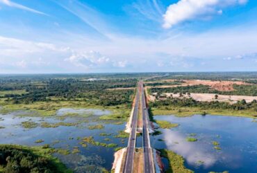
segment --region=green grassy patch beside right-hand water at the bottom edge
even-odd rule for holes
[[[184,158],[178,154],[169,151],[167,149],[160,149],[160,156],[163,156],[169,161],[169,168],[165,172],[179,172],[179,173],[192,173],[192,170],[188,170],[184,165]]]

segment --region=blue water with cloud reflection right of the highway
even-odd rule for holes
[[[179,127],[159,129],[151,145],[166,148],[185,158],[185,166],[195,172],[256,172],[257,123],[252,118],[232,116],[155,116],[156,120],[178,123]],[[186,138],[197,138],[188,142]],[[164,141],[160,141],[164,140]],[[221,149],[215,149],[213,141]],[[167,161],[164,162],[167,167]]]

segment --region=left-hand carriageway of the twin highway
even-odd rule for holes
[[[126,152],[126,161],[124,165],[124,173],[133,172],[133,160],[134,160],[134,152],[135,152],[135,140],[136,140],[136,131],[137,131],[137,122],[138,122],[138,104],[140,97],[140,85],[138,85],[138,92],[135,95],[135,107],[133,112],[133,118],[131,123],[131,134],[128,138],[128,147]]]

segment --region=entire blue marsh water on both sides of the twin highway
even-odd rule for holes
[[[100,172],[101,167],[110,170],[114,160],[113,147],[101,147],[88,144],[82,147],[81,138],[94,136],[100,143],[116,143],[117,147],[126,147],[127,138],[115,138],[118,131],[124,130],[125,123],[100,120],[99,116],[112,113],[99,109],[59,109],[56,116],[43,118],[33,116],[30,111],[15,111],[0,114],[0,143],[19,145],[44,145],[69,149],[78,147],[78,153],[54,154],[67,167],[76,172]],[[69,114],[70,116],[65,116]],[[80,116],[76,116],[76,114]],[[26,116],[24,116],[26,115]],[[74,116],[75,115],[75,116]],[[158,129],[163,134],[151,136],[151,146],[156,149],[166,148],[185,158],[185,166],[195,172],[256,172],[257,170],[257,123],[252,118],[232,116],[155,116],[156,120],[167,120],[178,123],[179,127]],[[22,122],[38,123],[35,128],[26,129]],[[44,128],[42,122],[79,122],[72,126]],[[103,129],[88,129],[90,125],[103,125]],[[108,133],[110,136],[101,136]],[[197,138],[196,142],[188,142],[187,137]],[[109,140],[106,141],[105,139]],[[137,146],[142,147],[142,136],[137,140]],[[35,143],[42,139],[43,143]],[[221,149],[214,149],[213,141],[219,143]],[[167,159],[163,158],[165,167]]]

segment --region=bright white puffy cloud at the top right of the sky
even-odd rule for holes
[[[165,15],[163,15],[163,28],[171,28],[182,21],[188,21],[196,17],[221,15],[221,8],[245,3],[247,3],[247,0],[180,0],[167,8]]]

